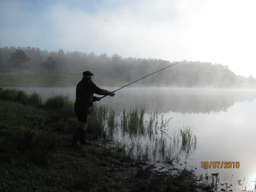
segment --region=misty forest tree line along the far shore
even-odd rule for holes
[[[23,53],[24,54],[23,54]],[[20,61],[16,57],[20,56]],[[21,59],[22,58],[22,59]],[[175,63],[177,61],[173,61]],[[38,72],[81,73],[92,71],[101,78],[131,82],[172,64],[161,59],[122,58],[118,54],[99,56],[78,51],[48,52],[39,48],[0,48],[0,70],[29,70]],[[236,75],[227,65],[200,61],[184,61],[157,74],[148,76],[139,84],[172,87],[256,87],[256,79]]]

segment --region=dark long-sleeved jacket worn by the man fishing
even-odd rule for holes
[[[95,85],[95,83],[86,77],[83,77],[82,80],[76,86],[76,101],[74,110],[75,112],[91,112],[91,106],[93,101],[96,101],[96,97],[93,94],[98,95],[110,95],[111,92],[100,89]]]

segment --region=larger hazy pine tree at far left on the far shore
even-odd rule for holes
[[[29,65],[25,65],[26,62],[30,61],[30,58],[27,57],[23,50],[16,49],[16,52],[10,54],[10,59],[8,59],[9,63],[12,63],[13,67],[18,68],[29,68]]]

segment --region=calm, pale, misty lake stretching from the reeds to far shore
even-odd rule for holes
[[[75,100],[75,87],[19,89],[36,91],[43,99],[61,93]],[[221,182],[232,183],[234,191],[239,187],[237,180],[244,177],[247,189],[254,186],[250,181],[256,179],[256,90],[125,87],[100,103],[120,108],[145,105],[147,113],[157,109],[165,120],[172,117],[170,135],[177,128],[193,127],[197,147],[187,162],[188,168],[196,167],[196,173],[203,175],[219,173]],[[202,169],[203,161],[239,162],[239,168]]]

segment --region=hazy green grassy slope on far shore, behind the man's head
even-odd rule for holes
[[[6,72],[0,74],[0,87],[75,87],[82,79],[82,73],[67,72]],[[100,86],[122,86],[126,82],[99,78],[96,74],[94,82]],[[126,83],[127,84],[127,83]]]

